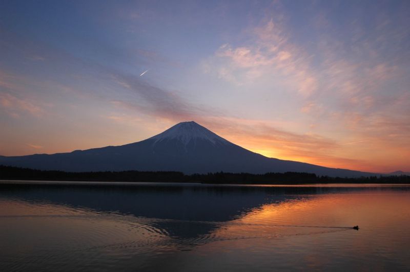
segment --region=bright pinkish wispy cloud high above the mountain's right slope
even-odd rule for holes
[[[206,61],[220,78],[242,85],[262,77],[279,77],[277,84],[303,97],[315,93],[318,79],[310,65],[311,56],[289,41],[280,21],[271,18],[248,33],[243,46],[223,44]]]

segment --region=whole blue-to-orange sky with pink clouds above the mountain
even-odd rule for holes
[[[269,157],[410,171],[408,14],[410,1],[3,0],[0,155],[195,121]]]

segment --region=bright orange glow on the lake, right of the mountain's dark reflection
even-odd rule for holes
[[[255,208],[218,229],[215,235],[274,238],[354,231],[355,225],[360,226],[360,232],[401,232],[409,221],[405,214],[410,214],[407,193],[306,195]]]

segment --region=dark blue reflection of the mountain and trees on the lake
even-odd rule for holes
[[[336,187],[249,187],[172,184],[2,184],[0,196],[33,202],[50,202],[104,213],[119,213],[153,219],[152,226],[170,236],[194,238],[209,234],[218,224],[243,217],[268,203],[298,198],[298,194],[357,191]],[[377,190],[380,190],[378,188]]]

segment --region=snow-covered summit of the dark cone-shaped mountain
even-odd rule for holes
[[[196,141],[198,139],[210,141],[213,144],[230,143],[222,137],[219,137],[211,130],[195,123],[194,121],[178,123],[175,126],[167,129],[166,131],[159,133],[154,137],[151,137],[150,139],[155,140],[154,143],[175,139],[182,142],[184,145],[187,145],[189,144],[189,142]]]

